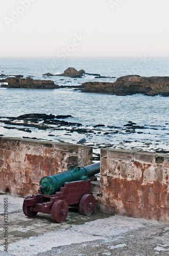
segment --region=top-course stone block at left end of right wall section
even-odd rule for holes
[[[107,150],[107,158],[115,158],[120,160],[130,160],[133,161],[134,158],[134,152],[133,150],[115,150],[109,148]]]

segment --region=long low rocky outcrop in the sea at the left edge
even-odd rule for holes
[[[5,88],[31,88],[31,89],[57,89],[59,86],[51,80],[34,80],[32,78],[8,77],[5,79],[8,84],[3,84]]]

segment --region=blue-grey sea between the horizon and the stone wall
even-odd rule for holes
[[[110,78],[98,79],[90,75],[82,78],[43,77],[47,72],[59,75],[69,67]],[[59,86],[65,86],[50,90],[0,87],[1,136],[74,144],[85,138],[84,145],[93,146],[96,158],[99,158],[100,147],[169,153],[169,97],[82,93],[73,88],[87,81],[115,82],[125,75],[169,76],[168,57],[0,58],[0,74],[53,80]],[[63,125],[62,129],[49,125],[45,130],[28,127],[31,131],[27,132],[21,131],[21,125],[4,123],[8,117],[31,113],[71,115],[64,119],[70,125]],[[72,123],[80,124],[81,130],[78,131],[77,125]]]

